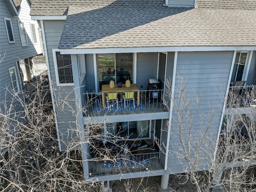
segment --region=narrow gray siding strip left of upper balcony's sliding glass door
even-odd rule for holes
[[[86,90],[88,93],[92,93],[95,91],[93,54],[86,54],[85,65],[86,65]]]

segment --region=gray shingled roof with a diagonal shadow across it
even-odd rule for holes
[[[67,14],[60,49],[256,46],[254,0],[198,0],[196,8],[166,7],[163,3],[33,0],[31,14]],[[40,7],[43,10],[38,12]]]

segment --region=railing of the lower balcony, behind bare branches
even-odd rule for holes
[[[91,158],[90,177],[132,172],[162,170],[159,153],[126,154],[113,160]]]

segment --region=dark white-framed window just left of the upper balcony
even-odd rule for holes
[[[61,55],[56,52],[56,80],[57,84],[73,85],[71,58],[69,54]]]

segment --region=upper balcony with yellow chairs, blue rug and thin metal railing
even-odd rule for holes
[[[84,114],[93,116],[168,112],[164,90],[85,93]]]

